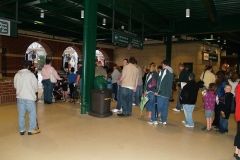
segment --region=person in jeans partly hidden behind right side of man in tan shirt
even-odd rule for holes
[[[137,61],[134,63],[134,66],[138,69],[138,86],[136,92],[133,93],[134,101],[133,106],[138,106],[140,104],[140,99],[142,96],[142,88],[143,88],[143,81],[142,81],[142,69],[140,66],[137,65]]]

